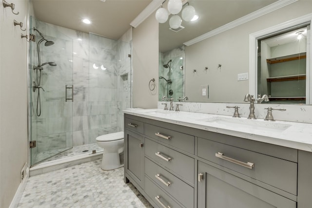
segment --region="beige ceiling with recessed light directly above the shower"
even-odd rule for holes
[[[41,21],[118,39],[152,0],[32,0]],[[88,18],[87,25],[81,19]]]

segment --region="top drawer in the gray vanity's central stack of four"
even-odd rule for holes
[[[145,124],[145,135],[157,139],[180,150],[194,154],[195,137],[189,134],[176,132],[170,129]]]

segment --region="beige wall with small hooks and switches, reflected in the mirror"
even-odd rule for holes
[[[185,47],[185,95],[190,101],[242,103],[243,96],[250,93],[249,80],[237,81],[237,74],[249,72],[249,34],[309,14],[311,8],[311,0],[299,0]],[[222,64],[222,67],[217,68],[218,64]],[[205,66],[209,67],[207,72]],[[193,73],[193,69],[197,69],[197,72]],[[201,96],[200,85],[204,84],[209,84],[209,99]]]

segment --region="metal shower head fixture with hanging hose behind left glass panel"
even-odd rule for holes
[[[39,35],[41,36],[42,39],[40,39],[37,43],[37,52],[38,52],[38,65],[34,66],[34,70],[36,70],[36,81],[32,82],[32,87],[33,87],[33,91],[36,92],[36,90],[38,89],[37,92],[37,107],[36,107],[36,113],[38,116],[41,115],[41,98],[40,98],[40,89],[42,89],[42,91],[44,92],[44,89],[40,86],[41,83],[41,70],[43,70],[43,66],[46,64],[49,64],[50,66],[56,66],[57,64],[54,62],[45,62],[43,64],[41,64],[41,55],[40,55],[40,44],[45,41],[44,46],[51,46],[54,44],[53,41],[51,40],[47,40],[42,33],[40,33],[39,30],[37,30],[36,28],[34,28],[34,31],[37,31],[39,33]],[[39,73],[38,73],[39,72]]]

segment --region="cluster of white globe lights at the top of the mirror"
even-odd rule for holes
[[[182,19],[185,21],[195,21],[198,19],[198,15],[195,14],[195,8],[191,6],[189,2],[186,2],[184,5],[182,5],[182,0],[169,0],[168,12],[165,8],[162,7],[165,1],[162,2],[161,8],[156,11],[155,17],[159,23],[164,23],[167,21],[168,16],[172,14],[173,16],[171,16],[171,18],[169,19],[169,25],[171,30],[173,29],[173,31],[178,32],[179,30],[183,29],[184,27],[181,26]],[[181,10],[182,19],[180,18],[180,16],[177,15]],[[175,30],[178,28],[179,30]]]

